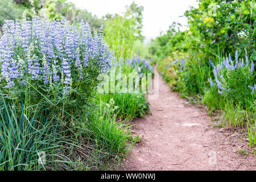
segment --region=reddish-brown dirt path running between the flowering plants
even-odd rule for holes
[[[172,92],[159,76],[158,100],[150,100],[151,114],[135,119],[134,135],[143,135],[118,170],[256,170],[245,136],[210,125],[204,109]]]

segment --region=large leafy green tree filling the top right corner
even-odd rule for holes
[[[237,49],[247,49],[249,55],[254,52],[255,56],[255,12],[255,0],[200,0],[199,7],[192,7],[185,16],[190,36],[213,52],[221,50],[233,54]],[[190,46],[200,47],[200,42]]]

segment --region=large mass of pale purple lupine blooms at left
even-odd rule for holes
[[[54,86],[61,82],[69,94],[72,79],[86,77],[92,63],[105,72],[113,53],[105,45],[103,23],[92,35],[88,23],[77,28],[66,19],[49,20],[34,15],[32,20],[5,20],[0,38],[1,84],[12,88],[28,79]]]

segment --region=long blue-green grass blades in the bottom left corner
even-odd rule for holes
[[[28,100],[20,102],[20,108],[13,102],[8,104],[1,92],[0,111],[0,169],[2,170],[34,170],[48,169],[39,165],[39,152],[46,152],[47,164],[59,168],[58,160],[71,164],[71,160],[64,154],[67,147],[64,143],[71,143],[68,129],[59,131],[63,127],[55,119],[54,111],[47,113],[41,103],[26,105]],[[19,114],[20,112],[20,114]]]

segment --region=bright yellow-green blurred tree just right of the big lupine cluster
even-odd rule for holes
[[[105,20],[105,39],[119,60],[131,59],[135,42],[143,40],[142,36],[142,11],[143,6],[134,2],[126,6],[126,12],[121,15],[107,14]]]

